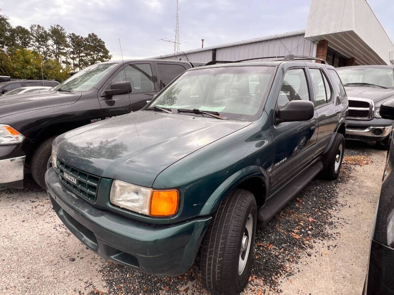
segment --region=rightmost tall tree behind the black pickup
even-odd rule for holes
[[[85,59],[84,66],[94,64],[98,61],[107,61],[111,59],[108,49],[105,47],[104,41],[102,41],[95,33],[90,33],[85,38]]]

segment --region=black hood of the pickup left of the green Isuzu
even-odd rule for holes
[[[81,97],[80,92],[69,93],[55,90],[0,96],[0,118],[58,105],[72,104],[79,97]]]

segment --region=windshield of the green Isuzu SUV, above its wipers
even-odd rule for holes
[[[270,66],[234,66],[188,71],[147,108],[198,109],[229,119],[253,120],[274,70]]]

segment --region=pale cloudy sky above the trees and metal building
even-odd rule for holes
[[[112,59],[155,57],[174,52],[175,0],[0,0],[12,26],[46,28],[104,40]],[[394,1],[368,0],[394,42]],[[180,50],[253,39],[306,28],[310,0],[179,0]]]

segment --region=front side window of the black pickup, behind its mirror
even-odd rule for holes
[[[126,77],[125,77],[126,73]],[[153,91],[153,74],[150,64],[131,64],[121,70],[111,83],[129,81],[131,83],[131,93]],[[110,87],[110,85],[109,85]]]

